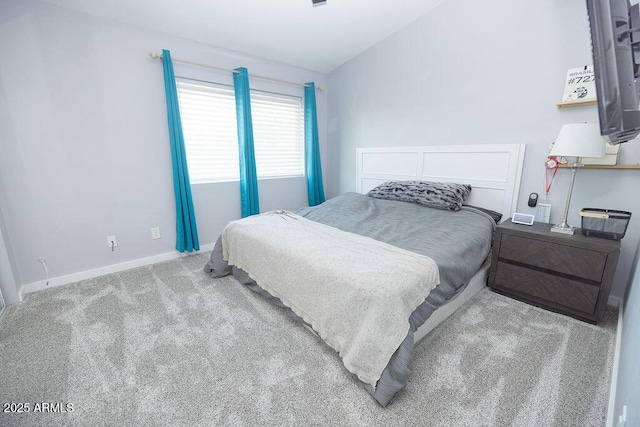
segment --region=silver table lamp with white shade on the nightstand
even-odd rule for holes
[[[571,163],[571,184],[569,184],[569,194],[567,195],[567,204],[564,208],[562,222],[551,227],[551,231],[556,233],[573,234],[575,228],[567,223],[567,216],[569,215],[569,204],[571,203],[573,183],[576,179],[576,170],[582,166],[580,164],[581,157],[604,157],[604,139],[600,135],[600,126],[595,123],[563,125],[556,141],[551,146],[549,156],[576,158],[575,162]]]

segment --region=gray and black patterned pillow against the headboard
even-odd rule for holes
[[[389,181],[367,193],[375,199],[417,203],[430,208],[457,211],[469,197],[471,186],[453,182]]]

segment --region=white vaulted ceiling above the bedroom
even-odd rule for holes
[[[446,0],[42,0],[328,73]]]

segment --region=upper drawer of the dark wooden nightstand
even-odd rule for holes
[[[607,254],[511,234],[502,234],[500,257],[600,282]]]

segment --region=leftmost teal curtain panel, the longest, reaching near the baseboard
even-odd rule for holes
[[[173,72],[171,53],[165,49],[162,50],[162,67],[167,98],[171,163],[173,165],[173,190],[176,199],[176,250],[193,252],[200,250],[200,243],[198,242],[195,208],[191,198],[191,183],[180,121],[176,77]]]

